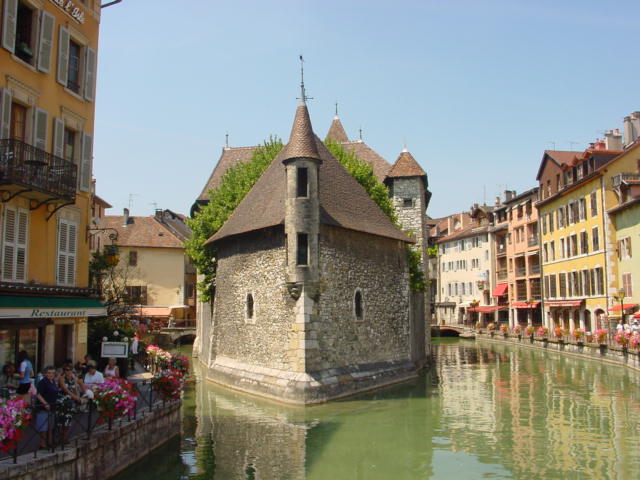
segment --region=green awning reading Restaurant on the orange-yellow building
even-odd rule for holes
[[[0,297],[0,319],[102,317],[107,309],[97,298]]]

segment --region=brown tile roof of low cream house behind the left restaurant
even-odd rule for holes
[[[122,215],[106,215],[101,227],[118,231],[117,245],[123,247],[184,248],[180,239],[155,217],[129,217],[123,225]],[[106,235],[105,235],[106,237]]]

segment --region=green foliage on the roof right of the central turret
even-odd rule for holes
[[[373,167],[367,162],[356,157],[353,152],[348,152],[342,145],[333,140],[326,140],[325,145],[334,157],[347,169],[353,178],[362,185],[362,188],[369,194],[374,202],[378,204],[380,209],[385,213],[391,221],[398,225],[398,220],[393,211],[393,203],[389,198],[389,190],[380,183],[378,178],[373,174]]]

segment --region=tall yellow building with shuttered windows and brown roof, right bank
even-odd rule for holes
[[[604,207],[606,165],[620,151],[546,151],[538,171],[543,319],[553,328],[605,327],[610,280]]]

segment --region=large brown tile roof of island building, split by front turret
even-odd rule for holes
[[[320,223],[413,242],[398,230],[358,182],[316,137],[320,164]],[[274,159],[231,217],[208,242],[282,224],[285,216],[283,152]]]

